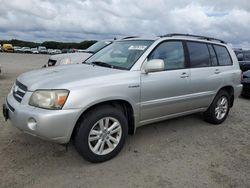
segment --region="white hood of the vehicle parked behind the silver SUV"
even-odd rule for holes
[[[77,63],[79,64],[85,61],[87,58],[89,58],[92,55],[93,54],[89,52],[67,53],[67,54],[52,55],[50,59],[58,61],[61,59],[69,58],[71,59],[73,64],[77,64]]]

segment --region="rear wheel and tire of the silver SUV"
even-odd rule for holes
[[[224,102],[222,102],[224,99]],[[225,101],[226,100],[226,101]],[[225,103],[225,105],[222,105]],[[220,105],[221,106],[220,106]],[[225,90],[221,90],[214,98],[212,104],[204,113],[207,122],[218,125],[225,121],[230,110],[230,96]],[[221,116],[219,115],[221,114]]]

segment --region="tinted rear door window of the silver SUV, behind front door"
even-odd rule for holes
[[[187,42],[191,67],[210,66],[210,57],[206,44]]]

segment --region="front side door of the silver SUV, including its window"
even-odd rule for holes
[[[190,109],[190,70],[182,42],[161,43],[148,56],[151,59],[162,59],[165,71],[141,74],[142,124]]]

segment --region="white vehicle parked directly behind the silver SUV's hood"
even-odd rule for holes
[[[87,58],[98,52],[99,50],[103,49],[104,47],[111,44],[112,41],[100,41],[84,52],[79,53],[67,53],[67,54],[60,54],[60,55],[53,55],[49,58],[48,64],[44,67],[51,67],[51,66],[58,66],[58,65],[67,65],[67,64],[80,64],[85,61]]]

